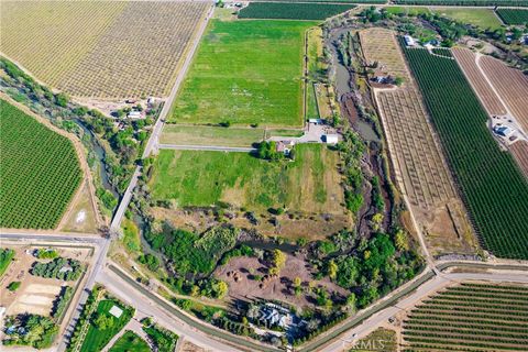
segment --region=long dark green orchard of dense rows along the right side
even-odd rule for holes
[[[462,70],[454,59],[402,46],[484,246],[501,257],[528,258],[528,183],[493,139]]]

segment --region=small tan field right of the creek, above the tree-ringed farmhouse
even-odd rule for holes
[[[361,47],[367,64],[378,62],[378,69],[408,80],[409,74],[391,30],[373,28],[360,31]]]

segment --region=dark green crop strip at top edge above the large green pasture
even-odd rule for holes
[[[355,8],[353,4],[250,2],[239,19],[324,20]]]

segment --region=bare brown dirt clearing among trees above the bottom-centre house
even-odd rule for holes
[[[240,277],[237,282],[233,273]],[[314,306],[314,301],[308,295],[308,284],[312,282],[314,287],[323,286],[329,293],[337,293],[345,296],[345,289],[331,283],[327,277],[321,280],[315,280],[311,272],[307,268],[306,261],[301,256],[287,255],[286,265],[280,271],[278,277],[264,278],[262,282],[252,279],[252,275],[265,276],[267,267],[256,257],[235,257],[229,264],[218,267],[215,276],[227,282],[229,285],[229,297],[232,299],[278,299],[296,307]],[[297,297],[294,294],[292,283],[295,277],[302,282],[302,294]],[[262,286],[262,287],[261,287]]]

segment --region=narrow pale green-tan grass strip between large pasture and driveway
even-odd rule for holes
[[[262,141],[264,129],[167,124],[160,143],[179,145],[251,146]]]

